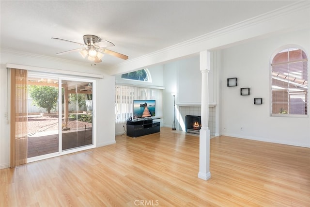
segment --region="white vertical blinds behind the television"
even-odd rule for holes
[[[133,115],[133,100],[156,100],[156,116],[162,116],[162,89],[115,86],[115,123],[124,124]]]

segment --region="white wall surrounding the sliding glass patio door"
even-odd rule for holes
[[[103,75],[103,79],[96,79],[96,145],[97,147],[115,143],[115,77],[102,73],[102,69],[88,64],[74,64],[45,59],[40,56],[21,55],[1,51],[0,60],[0,168],[9,166],[10,160],[10,97],[7,96],[6,63],[23,64],[44,68],[61,69],[62,71],[83,72]],[[9,91],[9,90],[8,90]],[[8,99],[7,99],[8,98]],[[8,109],[8,110],[7,110]]]

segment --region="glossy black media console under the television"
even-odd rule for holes
[[[160,132],[160,122],[155,122],[153,119],[127,121],[127,136],[129,137],[140,137],[156,132]]]

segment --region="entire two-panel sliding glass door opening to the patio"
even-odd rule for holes
[[[28,75],[28,162],[94,147],[93,85]]]

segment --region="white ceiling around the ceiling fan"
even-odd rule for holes
[[[84,34],[115,44],[130,59],[245,21],[288,5],[289,0],[91,0],[0,1],[0,47],[84,63],[78,52]],[[125,60],[106,55],[100,67]]]

